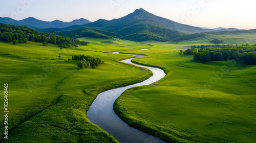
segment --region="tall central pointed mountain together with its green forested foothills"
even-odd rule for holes
[[[200,32],[218,32],[218,31],[234,31],[237,29],[207,29],[207,28],[199,28],[193,27],[189,25],[183,25],[181,23],[156,16],[151,14],[144,9],[136,9],[133,13],[130,13],[124,17],[119,19],[112,20],[104,20],[99,19],[95,22],[87,23],[86,25],[80,26],[72,26],[64,29],[44,29],[42,32],[57,32],[62,36],[63,34],[69,33],[70,36],[72,33],[78,35],[79,30],[82,31],[81,27],[88,27],[90,29],[90,33],[95,30],[104,31],[105,35],[114,37],[133,40],[133,41],[145,41],[145,40],[157,40],[157,41],[167,41],[172,40],[180,36],[184,36],[187,34],[200,33]],[[79,30],[73,30],[75,28],[81,28]],[[68,32],[61,32],[63,30],[69,30]],[[83,30],[84,31],[84,30]],[[100,31],[95,31],[99,32]],[[110,32],[110,33],[106,33]],[[88,33],[87,35],[90,35]],[[84,32],[81,32],[80,35],[84,35]],[[118,36],[117,36],[118,35]],[[194,34],[191,37],[200,37],[204,36],[203,34]],[[189,36],[185,36],[189,37]]]

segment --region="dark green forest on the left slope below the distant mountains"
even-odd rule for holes
[[[70,47],[87,45],[90,42],[79,41],[69,37],[62,37],[52,33],[42,33],[28,27],[7,25],[0,23],[0,40],[13,42],[13,44],[26,43],[27,41],[42,42],[43,45],[48,43],[57,44],[59,47]]]

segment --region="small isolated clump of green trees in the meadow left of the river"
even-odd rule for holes
[[[96,66],[104,63],[99,58],[94,58],[92,56],[86,56],[86,55],[74,55],[72,56],[72,60],[78,61],[77,66],[80,68],[95,68]]]

